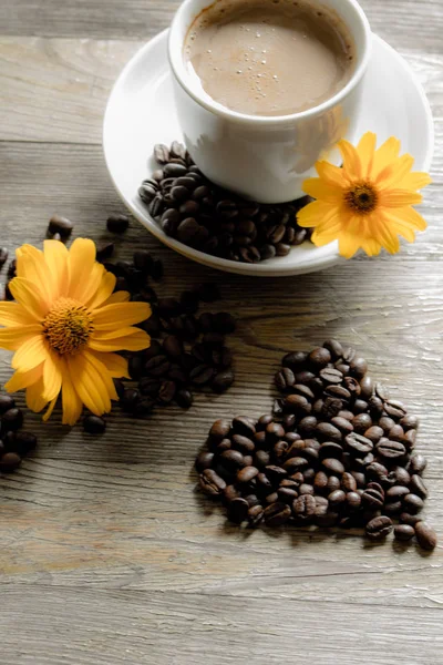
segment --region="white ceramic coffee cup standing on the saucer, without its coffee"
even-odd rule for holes
[[[187,150],[214,183],[259,203],[302,196],[302,183],[315,174],[317,160],[339,164],[338,141],[357,139],[371,29],[357,0],[311,2],[339,16],[356,43],[357,62],[351,80],[333,98],[292,115],[264,117],[231,111],[208,98],[192,76],[184,59],[185,39],[195,18],[214,0],[184,0],[171,27],[168,55]]]

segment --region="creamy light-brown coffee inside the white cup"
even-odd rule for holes
[[[318,106],[354,71],[346,27],[309,0],[218,0],[192,24],[184,58],[210,100],[248,115]]]

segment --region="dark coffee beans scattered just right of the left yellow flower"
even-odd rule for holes
[[[114,233],[123,233],[123,216],[107,221]],[[120,224],[120,226],[119,226]],[[127,225],[126,225],[127,228]],[[195,390],[222,393],[234,383],[233,352],[226,337],[235,331],[236,320],[226,311],[202,311],[202,304],[220,299],[218,287],[200,284],[179,297],[161,297],[151,280],[163,276],[163,263],[147,250],[134,252],[133,260],[109,263],[114,244],[97,247],[97,259],[117,277],[115,290],[127,290],[132,301],[148,303],[152,316],[140,324],[150,334],[151,347],[128,352],[130,381],[115,380],[120,407],[134,418],[150,416],[156,407],[176,403],[189,409]],[[91,434],[106,429],[103,418],[86,416],[83,428]]]

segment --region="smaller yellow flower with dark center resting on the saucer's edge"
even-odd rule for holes
[[[368,132],[354,147],[340,141],[343,166],[317,162],[319,177],[303,183],[303,191],[317,198],[298,213],[300,226],[315,227],[317,246],[339,241],[340,254],[351,258],[364,249],[369,256],[400,249],[399,235],[410,243],[415,231],[426,223],[412,205],[421,203],[418,194],[431,182],[427,173],[411,173],[411,155],[399,157],[400,141],[389,139],[375,150],[377,136]]]

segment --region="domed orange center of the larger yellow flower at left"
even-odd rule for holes
[[[43,321],[43,332],[50,347],[61,354],[75,354],[87,342],[93,331],[92,316],[72,298],[60,298]]]

